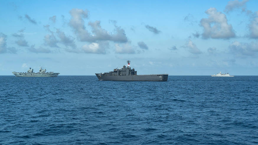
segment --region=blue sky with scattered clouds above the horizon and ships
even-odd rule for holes
[[[258,1],[1,1],[0,75],[258,75]]]

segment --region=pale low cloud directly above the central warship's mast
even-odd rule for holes
[[[133,48],[133,46],[131,45],[130,42],[127,43],[123,43],[123,44],[115,44],[115,52],[116,53],[120,53],[120,54],[133,54],[135,53],[135,49]]]

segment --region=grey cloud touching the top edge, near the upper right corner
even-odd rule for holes
[[[233,11],[233,9],[239,9],[242,8],[242,11],[245,11],[246,9],[246,2],[249,0],[243,0],[243,1],[228,1],[228,4],[225,7],[225,12]]]

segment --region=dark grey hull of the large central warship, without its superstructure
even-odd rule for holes
[[[99,80],[109,81],[167,81],[168,75],[103,75],[96,73]]]

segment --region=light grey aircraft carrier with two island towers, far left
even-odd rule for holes
[[[46,72],[46,69],[40,67],[39,72],[33,72],[30,68],[27,72],[12,72],[16,77],[57,77],[60,73]]]

